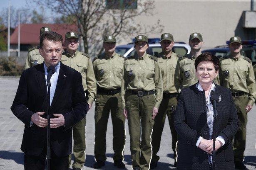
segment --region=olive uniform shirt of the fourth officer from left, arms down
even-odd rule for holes
[[[154,107],[159,108],[163,98],[163,80],[157,57],[146,53],[142,57],[126,58],[121,88],[122,109],[125,109],[126,92],[130,90],[153,90],[156,96]]]

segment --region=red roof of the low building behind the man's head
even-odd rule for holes
[[[51,27],[53,32],[57,32],[65,39],[65,34],[69,31],[77,32],[75,24],[20,24],[20,44],[39,44],[40,28]],[[10,36],[10,44],[18,44],[18,27]]]

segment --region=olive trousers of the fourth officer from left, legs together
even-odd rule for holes
[[[152,119],[155,96],[127,94],[125,107],[128,113],[132,168],[148,170],[152,159],[151,135],[154,126]],[[141,139],[141,140],[140,140]]]

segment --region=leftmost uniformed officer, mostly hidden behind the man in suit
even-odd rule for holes
[[[52,31],[50,27],[42,27],[40,28],[40,35],[44,32],[50,32],[50,31]],[[36,66],[37,64],[41,64],[43,61],[44,61],[44,58],[42,58],[42,56],[39,53],[39,46],[32,47],[28,49],[24,70],[27,68]]]

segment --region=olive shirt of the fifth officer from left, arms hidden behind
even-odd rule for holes
[[[172,52],[170,57],[165,56],[163,53],[159,53],[157,57],[163,78],[164,93],[177,93],[174,85],[174,73],[181,56],[177,56],[176,53]]]

